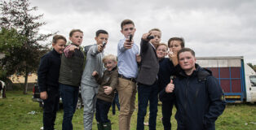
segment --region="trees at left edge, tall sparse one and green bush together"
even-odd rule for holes
[[[30,7],[29,0],[8,0],[0,3],[0,79],[19,73],[24,76],[24,93],[27,93],[29,72],[36,72],[40,57],[49,51],[40,44],[53,33],[41,34],[43,15],[33,15],[38,7]]]

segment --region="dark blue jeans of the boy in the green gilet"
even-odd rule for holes
[[[60,84],[60,96],[63,102],[63,130],[73,130],[73,114],[77,108],[79,87]]]

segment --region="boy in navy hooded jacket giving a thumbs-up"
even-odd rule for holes
[[[182,70],[166,86],[166,93],[177,103],[178,129],[214,130],[226,106],[223,90],[209,70],[196,64],[193,50],[183,48],[177,55]]]

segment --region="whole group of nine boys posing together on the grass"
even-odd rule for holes
[[[132,38],[135,31],[132,20],[121,22],[124,38],[118,42],[115,57],[113,54],[104,56],[108,32],[98,30],[95,37],[97,44],[90,46],[86,62],[80,47],[83,38],[81,30],[70,32],[69,40],[72,43],[66,47],[63,36],[53,37],[54,49],[41,58],[38,68],[38,85],[44,102],[44,129],[54,129],[60,96],[64,105],[62,129],[73,129],[72,118],[76,111],[79,86],[86,130],[92,129],[95,112],[98,129],[111,129],[108,111],[115,89],[119,94],[120,130],[130,130],[137,90],[138,130],[144,129],[148,102],[148,127],[150,130],[156,129],[158,97],[162,102],[165,130],[171,129],[170,116],[174,104],[178,129],[214,129],[214,122],[222,114],[225,101],[223,91],[211,72],[195,63],[195,53],[184,48],[182,38],[170,38],[167,46],[161,43],[161,30],[152,28],[143,34],[139,50]],[[168,47],[170,53],[167,53]],[[165,58],[167,54],[169,58]]]

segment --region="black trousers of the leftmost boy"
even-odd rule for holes
[[[54,130],[56,113],[59,109],[60,93],[58,88],[47,89],[48,98],[43,100],[43,129]]]

